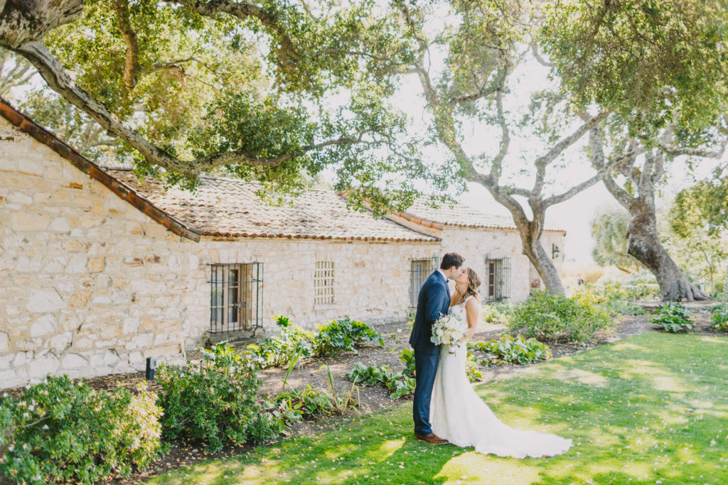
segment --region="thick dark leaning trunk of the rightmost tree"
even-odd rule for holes
[[[687,281],[678,265],[657,239],[657,222],[649,204],[633,204],[627,228],[627,252],[647,267],[660,285],[662,301],[710,300],[707,294]]]

